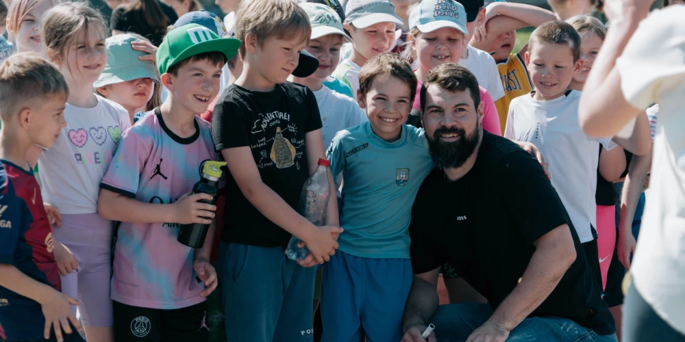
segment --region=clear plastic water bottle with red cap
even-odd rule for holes
[[[331,197],[331,188],[328,183],[327,159],[319,159],[319,166],[314,174],[304,183],[302,194],[300,195],[297,212],[312,222],[315,226],[324,226],[326,222],[326,209],[328,200]],[[297,247],[301,240],[295,236],[290,238],[286,255],[291,260],[301,260],[307,257],[309,249]]]

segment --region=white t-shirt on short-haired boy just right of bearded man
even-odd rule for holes
[[[580,128],[580,92],[569,90],[550,101],[536,101],[531,94],[512,100],[504,137],[537,146],[549,163],[552,185],[569,212],[580,242],[593,241],[590,225],[597,229],[599,144],[607,149],[616,144],[611,138],[588,137]]]

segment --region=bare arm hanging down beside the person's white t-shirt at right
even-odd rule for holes
[[[628,175],[621,193],[621,222],[619,223],[619,244],[616,254],[626,269],[630,268],[630,256],[635,252],[636,241],[633,236],[635,210],[643,192],[645,179],[651,168],[651,153],[634,156],[628,167]]]

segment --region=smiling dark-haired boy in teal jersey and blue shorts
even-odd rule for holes
[[[399,341],[412,282],[411,209],[433,168],[423,129],[404,124],[416,76],[384,53],[364,64],[358,100],[369,122],[340,131],[328,149],[334,176],[343,174],[338,252],[323,267],[323,340]]]

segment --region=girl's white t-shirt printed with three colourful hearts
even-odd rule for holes
[[[126,109],[96,97],[92,108],[66,105],[66,127],[38,159],[43,199],[63,214],[97,213],[100,182],[121,134],[131,127]]]

